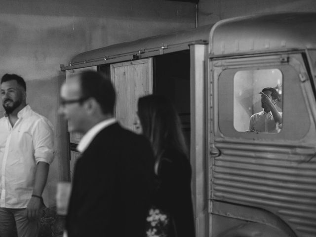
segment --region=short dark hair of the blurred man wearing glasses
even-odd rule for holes
[[[103,114],[113,114],[116,95],[111,80],[94,71],[81,73],[79,79],[82,97],[94,98],[101,106]]]

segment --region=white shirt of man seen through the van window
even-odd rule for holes
[[[281,116],[282,113],[278,112]],[[256,113],[250,117],[249,129],[257,132],[277,133],[275,119],[271,111],[266,113],[264,110]]]

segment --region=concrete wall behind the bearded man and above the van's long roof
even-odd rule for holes
[[[65,78],[60,64],[68,64],[83,51],[192,28],[195,4],[166,0],[0,0],[0,4],[0,76],[22,76],[28,103],[55,126],[56,155],[44,191],[46,203],[54,206],[56,183],[68,178],[66,123],[57,114]]]

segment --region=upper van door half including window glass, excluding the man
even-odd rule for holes
[[[278,56],[219,59],[214,60],[213,67],[217,80],[213,82],[214,94],[210,94],[210,109],[214,111],[210,124],[214,122],[215,136],[285,141],[300,140],[310,131],[312,117],[306,95],[313,91],[300,54],[288,56],[286,62]],[[247,132],[251,116],[263,110],[258,93],[265,87],[278,91],[276,108],[282,113],[281,124],[276,131]]]

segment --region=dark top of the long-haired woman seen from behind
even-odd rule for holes
[[[154,205],[170,214],[168,237],[195,237],[189,159],[175,150],[162,155]]]

